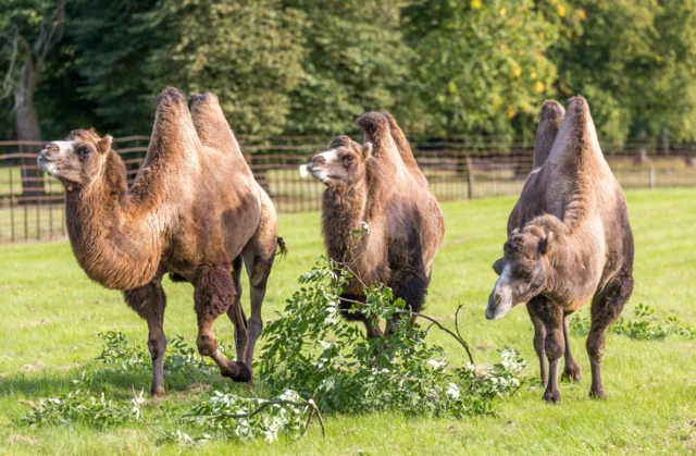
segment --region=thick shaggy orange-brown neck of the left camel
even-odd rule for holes
[[[129,210],[125,167],[115,152],[109,153],[101,180],[69,188],[65,219],[73,251],[87,275],[127,291],[152,279],[161,243],[147,214]]]

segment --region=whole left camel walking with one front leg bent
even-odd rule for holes
[[[67,233],[87,275],[124,292],[127,305],[147,321],[152,357],[151,394],[164,395],[162,278],[194,285],[196,345],[222,375],[251,380],[261,306],[277,237],[275,209],[256,183],[217,97],[166,88],[147,156],[128,188],[126,169],[111,136],[76,130],[49,143],[38,167],[65,188]],[[241,267],[250,281],[251,315],[240,305]],[[213,323],[227,313],[235,326],[237,360],[219,349]]]

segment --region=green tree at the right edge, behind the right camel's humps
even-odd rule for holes
[[[695,10],[694,0],[572,1],[575,24],[549,50],[559,95],[585,95],[617,145],[629,135],[696,138]]]

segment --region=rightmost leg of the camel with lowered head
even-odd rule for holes
[[[614,283],[607,284],[592,301],[592,328],[587,336],[587,355],[592,367],[592,386],[589,397],[605,398],[601,384],[601,361],[605,356],[605,332],[621,315],[623,305],[633,292],[633,278],[623,275]]]

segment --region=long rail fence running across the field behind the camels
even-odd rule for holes
[[[240,138],[257,181],[281,213],[319,210],[324,186],[301,178],[300,164],[325,149],[315,137]],[[114,139],[132,183],[149,137]],[[42,141],[0,141],[0,244],[65,236],[63,186],[37,171]],[[515,195],[532,170],[532,145],[465,138],[413,144],[414,155],[440,201]],[[696,186],[696,145],[631,139],[605,156],[624,188]]]

